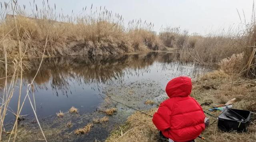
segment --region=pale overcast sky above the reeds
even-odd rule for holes
[[[2,0],[1,0],[2,1]],[[4,0],[5,2],[9,0]],[[20,5],[29,6],[30,0],[18,0]],[[47,0],[45,0],[47,1]],[[82,8],[106,6],[113,13],[122,14],[127,24],[132,19],[147,20],[154,23],[154,30],[161,26],[180,26],[190,33],[205,34],[209,31],[227,29],[240,23],[236,9],[250,20],[253,0],[48,0],[50,5],[65,14],[79,13]],[[31,0],[33,3],[33,0]],[[42,5],[42,0],[35,0]]]

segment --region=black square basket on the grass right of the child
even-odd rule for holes
[[[250,119],[250,111],[228,108],[218,116],[218,128],[224,132],[246,132]]]

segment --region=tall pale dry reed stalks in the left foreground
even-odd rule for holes
[[[17,1],[10,1],[12,4],[14,4],[14,7],[12,7],[12,13],[14,14],[14,11],[15,9],[18,7],[17,6]],[[2,4],[1,4],[2,5]],[[7,3],[5,3],[5,8],[8,6]],[[6,9],[5,10],[2,10],[2,7],[1,7],[1,14],[2,13],[5,13],[6,12]],[[2,17],[2,15],[1,15]],[[39,120],[37,118],[37,115],[36,115],[36,112],[35,112],[35,109],[34,109],[34,106],[32,105],[32,101],[28,95],[28,92],[30,91],[31,89],[31,86],[33,84],[33,81],[34,79],[32,80],[32,82],[30,84],[28,84],[28,87],[27,87],[27,93],[26,93],[26,96],[25,96],[25,99],[22,101],[21,100],[21,88],[22,88],[22,75],[23,75],[23,66],[26,65],[25,62],[23,61],[23,57],[24,57],[24,54],[26,53],[27,51],[27,45],[26,45],[26,42],[24,42],[24,44],[22,44],[22,39],[20,38],[20,28],[18,27],[18,24],[17,24],[17,20],[14,18],[13,21],[10,22],[10,24],[13,25],[12,28],[10,29],[5,29],[6,32],[4,31],[1,31],[1,38],[0,38],[0,54],[2,55],[1,57],[4,57],[4,61],[1,61],[2,63],[5,64],[5,85],[4,85],[4,91],[3,91],[3,96],[2,96],[2,106],[0,106],[0,114],[1,114],[1,122],[0,122],[0,141],[1,141],[1,138],[2,138],[2,131],[5,132],[5,128],[4,128],[4,119],[5,119],[5,115],[6,115],[6,111],[8,110],[8,105],[9,105],[9,102],[11,101],[12,99],[12,95],[13,95],[13,92],[14,92],[14,86],[16,85],[16,83],[18,82],[18,77],[20,78],[20,87],[19,87],[19,95],[18,95],[18,108],[17,108],[17,113],[15,114],[16,116],[16,120],[14,122],[14,125],[12,127],[12,130],[10,132],[10,135],[9,135],[9,139],[8,141],[10,141],[10,139],[12,138],[13,141],[16,140],[16,137],[17,137],[17,128],[18,128],[18,120],[20,118],[20,112],[22,110],[22,107],[24,105],[24,102],[26,100],[26,97],[28,97],[29,99],[29,103],[32,107],[32,110],[34,112],[34,115],[36,117],[36,120],[38,122],[38,126],[42,132],[42,135],[44,136],[44,132],[42,130],[42,127],[40,126],[40,123],[39,123]],[[2,28],[2,24],[0,26]],[[17,47],[18,50],[16,50],[16,53],[17,53],[17,56],[14,57],[12,59],[11,62],[7,61],[8,58],[10,58],[8,52],[10,51],[10,48],[8,49],[8,46],[10,45],[8,42],[10,41],[10,36],[9,34],[12,33],[12,37],[15,38],[15,44],[12,44],[12,45],[15,45]],[[24,32],[25,34],[27,32]],[[46,36],[46,39],[45,39],[45,46],[43,46],[43,53],[45,51],[45,47],[46,47],[46,44],[47,44],[47,37]],[[27,35],[26,37],[24,37],[24,39],[27,39],[27,40],[30,40],[31,37],[29,35]],[[8,45],[9,44],[9,45]],[[12,50],[12,49],[11,49]],[[42,55],[42,58],[44,57],[44,54]],[[1,58],[2,59],[2,58]],[[10,75],[8,73],[7,75],[7,72],[8,72],[8,64],[13,64],[14,66],[13,69],[14,69],[14,72],[12,72]],[[42,60],[41,60],[41,63],[42,63]],[[11,66],[10,66],[11,67]],[[38,70],[40,69],[40,66],[38,67]],[[37,72],[38,72],[37,70]],[[37,73],[36,73],[37,75]],[[35,77],[36,77],[35,75]],[[7,84],[7,79],[8,77],[11,77],[12,79],[10,80],[10,83],[8,82]],[[35,78],[34,77],[34,78]],[[22,105],[20,105],[22,103]],[[12,135],[14,134],[14,136]],[[13,137],[12,137],[13,136]],[[46,137],[44,136],[44,140],[46,140]]]

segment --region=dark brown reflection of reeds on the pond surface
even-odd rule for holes
[[[177,53],[148,52],[130,55],[96,56],[90,57],[53,57],[45,58],[33,85],[33,90],[46,89],[50,83],[53,90],[61,91],[62,95],[70,92],[70,83],[80,84],[111,83],[122,80],[124,75],[137,76],[149,71],[155,62],[161,63],[160,69],[173,69]],[[24,69],[23,78],[32,81],[39,67],[39,59],[30,59],[29,69]],[[141,70],[138,72],[138,70]],[[33,93],[33,92],[32,92]],[[58,95],[58,94],[57,94]]]

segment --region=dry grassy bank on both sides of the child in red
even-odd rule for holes
[[[208,87],[214,87],[209,89]],[[224,104],[230,99],[236,98],[233,104],[234,108],[254,111],[256,110],[256,98],[254,91],[256,90],[256,82],[239,77],[231,76],[224,71],[214,71],[207,73],[202,78],[193,81],[192,97],[196,98],[199,103],[213,102],[212,105]],[[211,108],[210,106],[202,106],[204,110]],[[148,110],[147,113],[153,115],[157,108]],[[212,112],[218,116],[220,112]],[[207,114],[206,114],[207,115]],[[222,132],[218,130],[217,123],[213,123],[215,118],[210,118],[211,125],[202,132],[202,136],[208,142],[254,142],[256,140],[256,116],[253,116],[252,123],[249,126],[249,132]],[[212,124],[213,123],[213,124]],[[159,131],[152,122],[152,118],[136,112],[131,115],[126,123],[121,126],[122,131],[118,128],[114,130],[107,138],[107,142],[156,142],[160,141]],[[196,139],[196,141],[204,142],[204,140]]]

